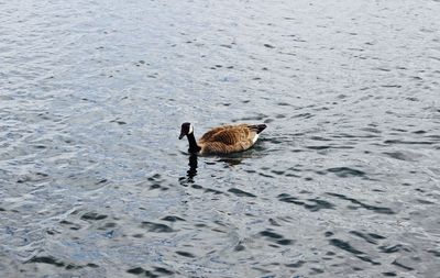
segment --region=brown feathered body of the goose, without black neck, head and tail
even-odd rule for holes
[[[206,133],[199,141],[202,153],[229,154],[254,144],[257,130],[248,124],[223,125]]]

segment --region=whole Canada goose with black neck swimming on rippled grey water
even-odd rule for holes
[[[193,125],[183,123],[179,140],[185,135],[188,137],[190,154],[230,154],[250,148],[264,129],[265,124],[222,125],[208,131],[196,142]]]

